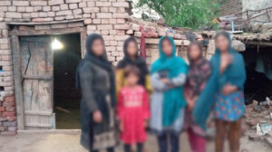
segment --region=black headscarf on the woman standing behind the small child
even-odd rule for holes
[[[135,43],[136,44],[138,52],[137,52],[137,54],[135,56],[135,60],[132,60],[129,53],[128,53],[129,43]],[[139,52],[140,52],[140,49],[139,49],[139,46],[138,46],[138,43],[137,43],[136,39],[134,37],[132,37],[132,36],[127,38],[125,40],[125,42],[123,43],[124,57],[120,62],[118,62],[117,69],[123,69],[127,65],[137,66],[139,68],[139,70],[141,71],[139,84],[144,86],[145,85],[145,77],[146,77],[147,74],[149,74],[149,70],[148,70],[147,63],[146,63],[145,59],[142,58],[139,55]]]

